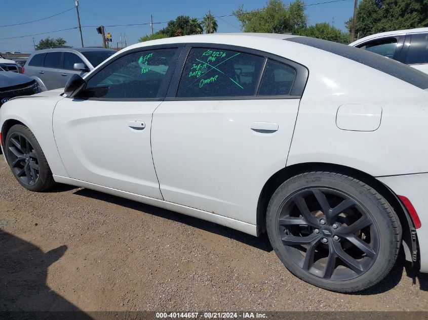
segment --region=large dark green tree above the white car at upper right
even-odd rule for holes
[[[358,6],[355,34],[412,29],[428,25],[428,0],[362,0]],[[352,17],[346,22],[349,32]]]

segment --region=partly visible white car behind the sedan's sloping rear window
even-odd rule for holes
[[[400,61],[428,73],[428,28],[376,33],[349,45]]]

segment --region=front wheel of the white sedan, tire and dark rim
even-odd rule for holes
[[[12,126],[6,136],[5,155],[18,182],[27,190],[52,188],[55,180],[42,148],[26,126]]]

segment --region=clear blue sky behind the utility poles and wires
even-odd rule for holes
[[[318,22],[332,23],[334,26],[345,30],[344,23],[353,14],[354,1],[343,0],[336,3],[313,5],[332,0],[305,0],[306,14],[309,24]],[[289,0],[284,3],[289,4]],[[132,23],[148,23],[150,15],[153,15],[153,22],[166,22],[175,19],[179,15],[188,15],[190,17],[202,18],[208,10],[211,10],[214,16],[229,15],[240,5],[244,5],[247,10],[255,10],[264,7],[264,0],[213,0],[213,1],[135,1],[135,0],[80,0],[79,9],[82,26],[98,25],[116,25]],[[56,13],[65,11],[74,7],[74,0],[21,0],[18,3],[14,1],[5,1],[2,3],[2,18],[0,25],[16,24],[45,18]],[[12,14],[16,13],[16,14]],[[217,18],[218,32],[239,32],[240,23],[235,17]],[[30,35],[77,26],[75,9],[67,11],[61,15],[50,19],[23,24],[18,26],[0,27],[0,38],[16,37],[21,35]],[[154,24],[154,31],[162,29],[166,23]],[[133,44],[138,41],[142,35],[150,33],[149,25],[140,26],[120,26],[107,27],[106,31],[111,32],[113,43],[119,41],[120,33],[126,33],[127,44]],[[101,45],[101,36],[97,34],[94,27],[84,27],[82,29],[85,46]],[[20,51],[31,52],[33,50],[33,37],[37,44],[40,39],[50,37],[63,37],[68,45],[81,47],[80,35],[78,29],[34,35],[14,39],[0,39],[0,52]]]

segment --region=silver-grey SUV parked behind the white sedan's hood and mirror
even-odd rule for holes
[[[36,79],[43,91],[62,88],[73,74],[85,75],[116,51],[100,48],[37,50],[28,57],[24,73]]]

